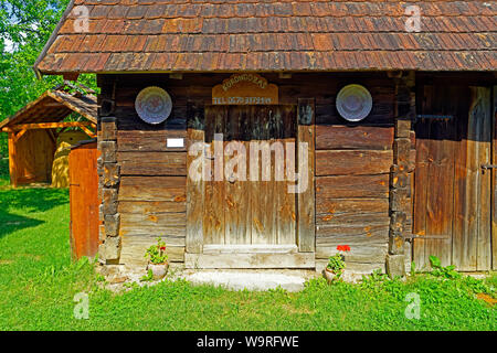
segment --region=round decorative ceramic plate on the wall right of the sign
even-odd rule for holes
[[[372,97],[361,85],[343,87],[337,97],[338,113],[348,121],[361,121],[372,110]]]

